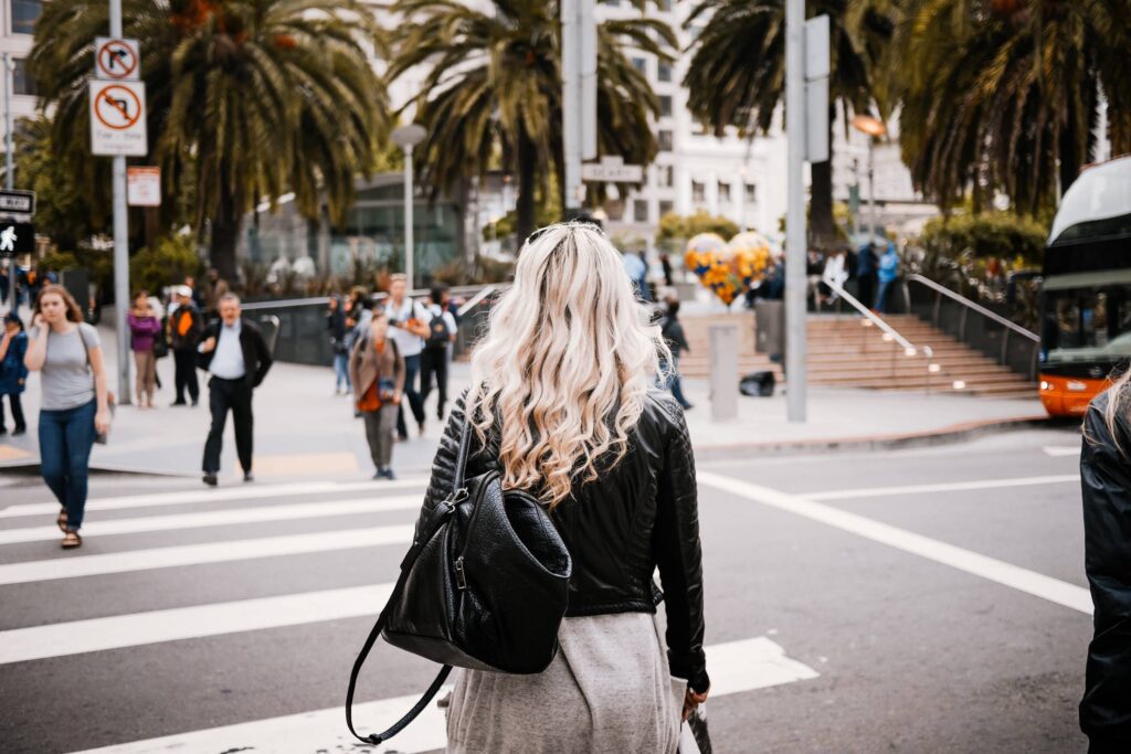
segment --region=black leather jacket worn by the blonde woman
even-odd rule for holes
[[[425,511],[451,492],[463,422],[460,396],[432,463]],[[499,470],[498,447],[498,432],[489,435],[485,449],[473,432],[467,476]],[[655,613],[665,600],[672,675],[705,691],[710,681],[703,656],[696,466],[679,404],[650,390],[624,458],[579,486],[551,517],[573,560],[567,616]],[[657,566],[663,595],[651,579]]]

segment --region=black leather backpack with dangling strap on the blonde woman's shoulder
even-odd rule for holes
[[[412,722],[452,666],[534,674],[558,653],[572,571],[569,551],[533,495],[504,492],[497,471],[465,482],[469,441],[465,421],[451,494],[417,525],[389,601],[354,661],[346,725],[366,744],[386,742]],[[354,687],[379,635],[443,668],[392,727],[362,736],[353,726]]]

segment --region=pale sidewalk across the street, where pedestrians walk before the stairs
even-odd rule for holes
[[[107,352],[107,365],[112,366],[113,333],[103,328],[100,335]],[[158,408],[120,407],[110,443],[94,448],[92,468],[183,476],[200,473],[210,422],[207,388],[201,385],[205,391],[197,408],[171,408],[172,359],[161,359],[157,370],[164,384],[157,391]],[[452,365],[450,396],[459,395],[467,384],[468,374],[466,364]],[[112,385],[114,382],[111,376]],[[740,397],[737,416],[714,422],[706,381],[688,380],[684,391],[696,406],[687,416],[700,458],[874,449],[940,437],[955,440],[986,427],[1024,424],[1044,416],[1035,396],[1017,400],[814,388],[809,393],[809,421],[804,424],[786,421],[785,396]],[[275,364],[256,391],[257,478],[369,478],[372,467],[362,423],[353,418],[351,399],[333,392],[334,372],[329,366]],[[0,437],[0,474],[6,467],[38,462],[35,418],[38,402],[38,376],[33,374],[24,393],[28,434]],[[398,443],[394,450],[394,468],[398,471],[418,473],[430,468],[442,432],[434,411],[433,392],[425,435],[417,436],[414,423],[409,422],[412,439]],[[221,477],[222,483],[227,484],[240,477],[231,422],[225,433]]]

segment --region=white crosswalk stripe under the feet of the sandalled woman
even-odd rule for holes
[[[368,500],[327,500],[318,503],[295,505],[260,505],[225,511],[179,513],[174,515],[149,515],[139,519],[116,519],[92,521],[83,526],[84,537],[173,531],[204,527],[230,526],[236,523],[265,523],[267,521],[295,521],[334,515],[356,515],[359,513],[385,513],[389,511],[416,510],[421,506],[420,495],[398,497],[371,497]],[[62,536],[57,526],[27,527],[24,529],[0,529],[0,545],[21,541],[43,541]]]

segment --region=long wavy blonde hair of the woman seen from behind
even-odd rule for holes
[[[472,356],[467,416],[484,442],[501,425],[503,486],[553,509],[597,478],[598,460],[607,473],[624,457],[650,374],[670,357],[601,231],[551,225],[524,244]]]

